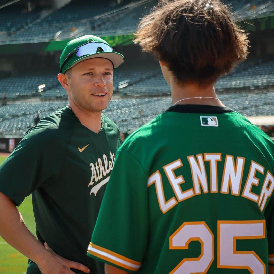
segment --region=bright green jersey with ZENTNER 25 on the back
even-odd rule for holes
[[[171,107],[118,150],[87,255],[132,273],[268,273],[273,155],[229,108]]]

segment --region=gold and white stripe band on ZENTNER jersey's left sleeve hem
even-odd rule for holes
[[[105,249],[101,246],[97,246],[92,242],[90,242],[87,252],[95,257],[132,271],[138,271],[142,265],[141,262],[131,260],[127,257],[119,255],[118,253]]]

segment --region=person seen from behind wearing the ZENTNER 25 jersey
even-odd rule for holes
[[[118,150],[87,255],[106,274],[268,273],[274,144],[214,91],[247,36],[218,0],[160,1],[140,25],[173,106]]]

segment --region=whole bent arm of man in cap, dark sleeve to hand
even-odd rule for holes
[[[88,273],[87,267],[61,258],[49,247],[43,246],[27,229],[16,207],[35,189],[45,184],[48,178],[57,174],[49,133],[30,129],[0,165],[0,236],[32,259],[43,274],[73,274],[70,268]]]

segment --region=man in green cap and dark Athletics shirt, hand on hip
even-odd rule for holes
[[[0,167],[0,235],[30,258],[28,274],[104,273],[85,254],[121,144],[102,110],[112,97],[113,68],[123,61],[99,37],[68,42],[58,74],[67,107],[28,130]],[[31,193],[38,241],[16,208]]]

